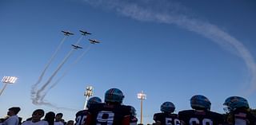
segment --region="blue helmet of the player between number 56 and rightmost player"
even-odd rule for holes
[[[196,110],[207,110],[210,111],[210,100],[206,96],[195,95],[190,99],[190,106]]]

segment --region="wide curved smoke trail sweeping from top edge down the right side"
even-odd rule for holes
[[[172,1],[160,0],[155,2],[152,0],[137,0],[131,2],[118,1],[118,0],[84,0],[92,6],[100,6],[104,9],[114,10],[123,16],[134,18],[138,21],[154,21],[168,25],[178,25],[183,29],[187,29],[194,33],[198,33],[203,37],[214,41],[225,49],[234,49],[238,56],[245,61],[246,67],[250,72],[250,88],[246,90],[246,95],[256,91],[256,64],[250,51],[238,41],[235,37],[226,33],[217,25],[210,24],[207,21],[202,21],[198,18],[193,18],[187,12],[184,6]],[[145,6],[146,5],[146,6]],[[159,7],[161,6],[161,7]],[[154,8],[154,10],[153,10]]]

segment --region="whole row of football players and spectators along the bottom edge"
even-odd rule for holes
[[[105,93],[104,102],[91,97],[86,110],[78,111],[74,120],[65,121],[63,114],[53,111],[45,113],[36,109],[30,118],[18,117],[20,107],[10,107],[7,117],[0,119],[0,125],[140,125],[133,106],[122,104],[124,95],[118,88],[110,88]],[[226,114],[210,111],[211,103],[206,96],[195,95],[190,99],[192,109],[178,111],[175,105],[166,101],[160,112],[154,114],[154,125],[256,125],[256,116],[250,112],[248,101],[241,96],[230,96],[224,101]]]

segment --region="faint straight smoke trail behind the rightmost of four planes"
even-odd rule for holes
[[[89,50],[90,50],[90,45],[89,45],[89,46],[86,48],[86,50],[73,62],[73,64],[72,64],[69,68],[66,69],[66,71],[62,74],[62,76],[59,77],[58,80],[56,80],[56,82],[55,82],[54,84],[52,84],[52,85],[50,86],[50,88],[48,88],[48,89],[46,90],[45,94],[42,96],[42,99],[46,96],[46,94],[50,91],[51,88],[54,88],[54,86],[57,85],[57,84],[59,83],[59,81],[62,80],[62,78],[63,78],[64,76],[66,76],[66,74],[67,74],[68,72],[70,72],[70,70],[71,70],[72,68],[74,68],[74,65],[77,64],[78,61],[80,61],[80,60],[82,59],[82,57],[84,57],[84,56],[86,55],[86,53],[87,53]]]

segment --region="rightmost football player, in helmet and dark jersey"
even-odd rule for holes
[[[228,97],[224,104],[227,113],[226,123],[230,125],[256,125],[256,117],[250,113],[246,99],[240,96]]]

